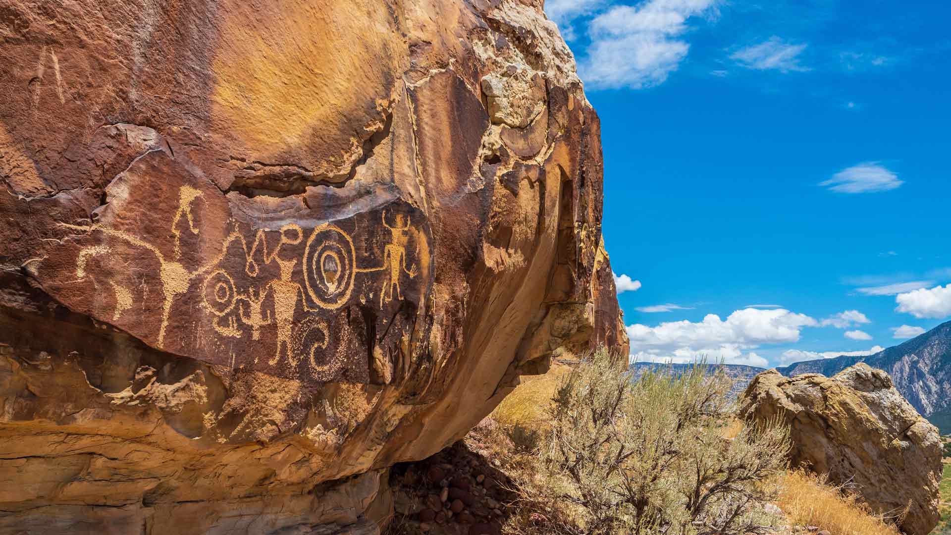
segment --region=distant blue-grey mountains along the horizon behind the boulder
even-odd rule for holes
[[[787,377],[804,373],[832,376],[860,362],[888,372],[895,387],[922,416],[938,426],[942,434],[951,433],[951,322],[873,355],[843,355],[832,359],[799,362],[776,369]],[[631,368],[637,371],[658,366],[666,365],[635,363]],[[675,370],[689,366],[692,365],[673,365]],[[765,368],[741,365],[724,365],[724,369],[735,381],[733,392],[737,394],[746,388],[757,373],[765,371]]]

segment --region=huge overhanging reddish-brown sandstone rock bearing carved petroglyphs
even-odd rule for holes
[[[0,0],[0,531],[377,533],[623,347],[537,0]]]

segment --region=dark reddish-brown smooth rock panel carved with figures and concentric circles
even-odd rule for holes
[[[401,200],[381,197],[341,218],[320,208],[295,222],[281,213],[232,217],[220,190],[163,153],[109,188],[93,222],[59,224],[62,240],[38,275],[69,307],[153,347],[285,377],[367,383],[380,375],[371,355],[398,355],[425,307],[429,234],[421,212]]]

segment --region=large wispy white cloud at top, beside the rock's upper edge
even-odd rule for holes
[[[713,11],[720,0],[647,0],[636,8],[613,6],[591,22],[592,39],[579,65],[593,88],[650,88],[664,83],[687,57],[681,37],[690,17]]]

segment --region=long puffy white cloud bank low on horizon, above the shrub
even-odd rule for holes
[[[711,361],[766,366],[766,359],[749,350],[764,344],[797,342],[803,327],[818,326],[815,319],[785,308],[744,308],[726,320],[708,314],[701,322],[666,322],[657,327],[635,324],[627,331],[634,359],[690,362],[705,356]]]

